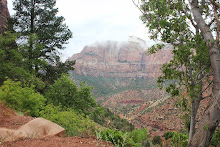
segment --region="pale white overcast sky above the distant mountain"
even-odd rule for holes
[[[8,0],[10,14],[12,1]],[[73,32],[62,53],[63,61],[97,41],[126,41],[131,35],[149,41],[132,0],[57,0],[57,7]]]

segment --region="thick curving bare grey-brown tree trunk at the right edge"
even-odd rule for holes
[[[198,0],[192,0],[191,11],[209,49],[209,56],[213,71],[212,100],[199,122],[199,127],[188,146],[208,147],[220,121],[220,54],[218,40],[215,40],[211,29],[205,23],[199,8]]]

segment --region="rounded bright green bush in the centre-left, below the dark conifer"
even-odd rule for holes
[[[48,103],[55,106],[73,108],[78,112],[82,111],[89,114],[89,109],[96,105],[90,89],[85,83],[81,83],[80,88],[78,88],[68,75],[63,74],[45,92],[45,97],[48,99]]]

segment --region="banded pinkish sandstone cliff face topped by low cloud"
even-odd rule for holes
[[[108,41],[86,46],[68,60],[76,60],[75,71],[81,75],[151,78],[161,74],[162,65],[172,58],[171,51],[172,48],[167,47],[146,56],[146,51],[138,43]]]

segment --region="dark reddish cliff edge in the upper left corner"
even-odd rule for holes
[[[0,0],[0,34],[3,33],[6,27],[7,17],[9,17],[7,0]]]

